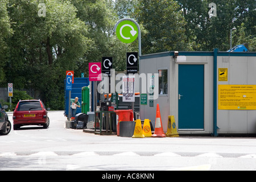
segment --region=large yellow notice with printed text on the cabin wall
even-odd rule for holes
[[[218,109],[256,110],[256,85],[218,85]]]

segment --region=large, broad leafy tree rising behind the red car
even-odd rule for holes
[[[69,1],[43,3],[46,16],[38,15],[39,1],[10,0],[14,35],[9,39],[6,75],[15,89],[30,89],[52,109],[63,109],[64,104],[57,103],[64,97],[65,71],[76,69],[86,52],[88,28]]]

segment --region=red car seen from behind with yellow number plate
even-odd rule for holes
[[[19,101],[13,112],[13,129],[24,125],[41,125],[44,129],[49,126],[47,109],[41,100]]]

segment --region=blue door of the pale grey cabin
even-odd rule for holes
[[[179,130],[204,130],[204,65],[179,64]]]

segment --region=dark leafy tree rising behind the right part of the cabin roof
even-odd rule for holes
[[[195,51],[230,48],[230,29],[245,24],[245,34],[255,37],[255,1],[220,0],[216,2],[217,16],[210,18],[209,0],[179,0],[180,10],[187,22],[185,35]],[[233,34],[234,35],[234,34]],[[252,45],[251,45],[252,46]]]

